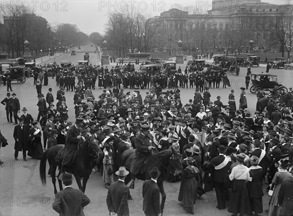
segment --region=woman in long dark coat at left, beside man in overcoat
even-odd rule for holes
[[[34,121],[32,123],[33,127],[29,130],[29,137],[28,137],[28,152],[27,155],[31,156],[34,159],[41,159],[43,149],[42,149],[42,132],[37,127],[38,122]]]

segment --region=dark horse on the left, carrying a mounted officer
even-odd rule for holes
[[[56,156],[63,149],[64,145],[57,145],[47,149],[40,162],[40,177],[42,185],[46,186],[46,162],[48,159],[51,169],[52,183],[54,185],[54,194],[57,194],[55,173],[60,162],[56,160]],[[71,166],[66,168],[66,172],[72,173],[76,179],[78,187],[81,191],[85,191],[86,182],[94,167],[95,160],[100,161],[103,157],[103,151],[99,147],[99,142],[93,137],[87,138],[78,149],[76,159]],[[60,174],[60,171],[58,175]],[[83,185],[81,183],[83,179]],[[60,191],[63,190],[62,182],[58,179]]]

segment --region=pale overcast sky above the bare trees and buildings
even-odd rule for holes
[[[240,0],[230,0],[240,1]],[[272,4],[284,4],[288,0],[262,0]],[[105,31],[107,14],[109,12],[125,10],[126,3],[148,16],[160,16],[172,5],[179,3],[182,6],[198,6],[203,11],[211,9],[211,0],[21,0],[21,5],[32,8],[35,13],[45,18],[51,25],[58,23],[76,24],[85,34]],[[1,7],[10,0],[1,0]]]

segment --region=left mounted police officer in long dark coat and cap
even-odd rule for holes
[[[76,118],[75,124],[67,132],[61,173],[58,177],[59,180],[63,178],[66,166],[69,166],[75,160],[76,151],[78,150],[79,143],[82,140],[81,128],[83,127],[83,121],[83,118]]]

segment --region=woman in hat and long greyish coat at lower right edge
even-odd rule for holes
[[[291,178],[292,174],[287,171],[289,166],[289,160],[281,159],[279,162],[279,171],[275,173],[272,179],[272,184],[274,185],[273,193],[270,199],[270,207],[268,216],[275,216],[278,212],[278,194],[280,191],[281,184],[283,180]]]

